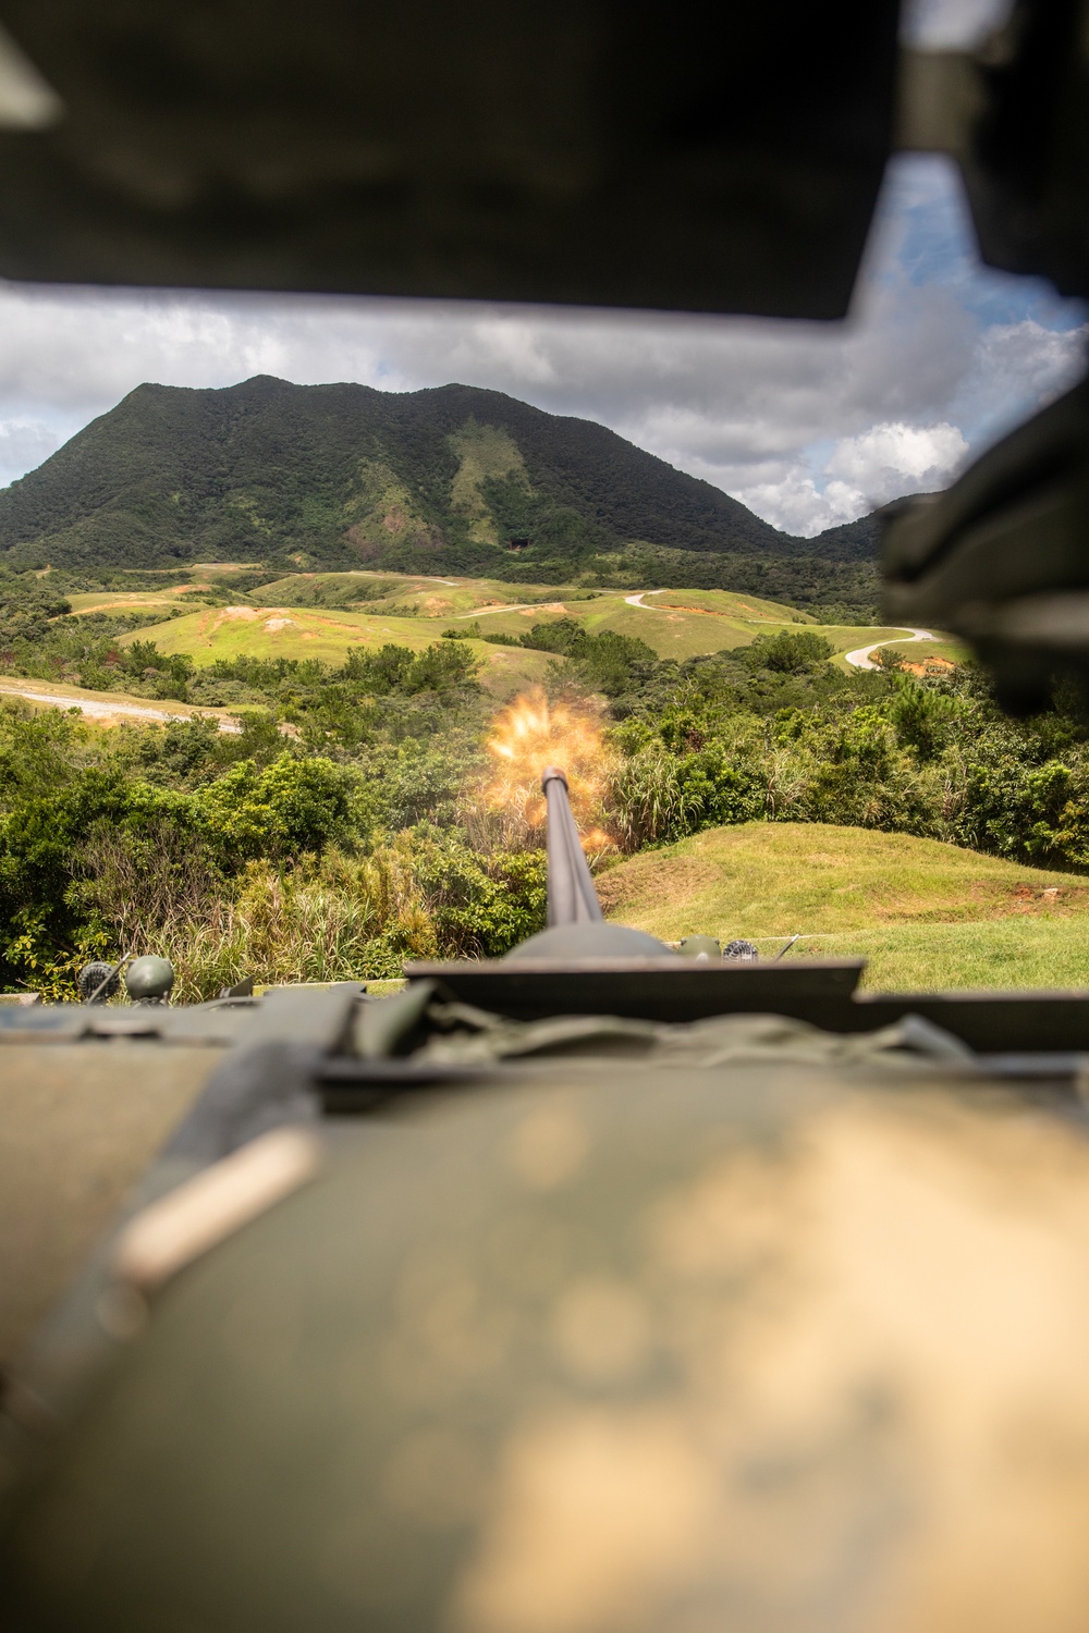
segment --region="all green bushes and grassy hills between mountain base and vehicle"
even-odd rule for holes
[[[495,578],[222,565],[0,576],[5,686],[188,714],[100,730],[0,709],[0,986],[70,991],[131,946],[171,957],[189,998],[503,952],[542,923],[544,859],[539,831],[482,808],[483,741],[531,683],[604,709],[622,916],[802,932],[870,954],[870,985],[1082,978],[1089,722],[1069,689],[1012,722],[971,665],[911,673],[905,645],[844,670],[888,632],[718,590],[508,598]],[[727,851],[713,888],[661,887],[715,844],[728,888]],[[620,898],[624,879],[651,883]]]

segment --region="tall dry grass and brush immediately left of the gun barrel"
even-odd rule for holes
[[[261,857],[224,879],[168,825],[145,836],[98,828],[77,869],[73,888],[114,955],[170,959],[181,1003],[245,977],[397,977],[408,959],[495,955],[544,924],[542,857],[475,857],[434,830],[405,830],[361,856]]]

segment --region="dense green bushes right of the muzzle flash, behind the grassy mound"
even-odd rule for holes
[[[823,645],[811,634],[754,642],[622,699],[612,800],[627,848],[764,816],[1089,867],[1089,722],[1076,696],[1060,689],[1048,714],[1014,722],[971,666],[841,674]]]

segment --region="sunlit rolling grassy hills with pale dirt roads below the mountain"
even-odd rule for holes
[[[157,575],[144,575],[155,578]],[[457,640],[475,665],[487,697],[509,701],[540,684],[553,653],[521,645],[531,630],[576,624],[588,635],[633,637],[658,658],[684,661],[718,652],[738,652],[759,637],[808,630],[828,642],[828,661],[839,671],[872,670],[883,647],[903,650],[919,673],[929,660],[939,668],[963,661],[963,648],[940,632],[896,630],[885,625],[821,624],[784,603],[722,590],[607,591],[575,585],[524,585],[511,601],[509,585],[490,578],[438,578],[367,570],[260,576],[253,586],[248,563],[204,563],[158,590],[98,590],[67,596],[70,616],[93,625],[119,619],[118,650],[150,642],[162,658],[180,658],[194,671],[238,660],[318,663],[341,666],[351,652],[403,647],[426,652],[436,640]],[[39,575],[47,585],[51,573]],[[487,639],[485,639],[487,637]],[[926,637],[926,639],[921,639]],[[114,678],[116,691],[103,683]],[[78,670],[20,683],[0,674],[0,692],[33,707],[64,705],[111,725],[118,720],[188,719],[204,709],[220,730],[235,730],[229,689],[222,697],[204,684],[198,702],[178,699],[167,709],[149,704],[142,687],[126,689],[116,666],[78,684]],[[75,683],[75,684],[73,684]]]

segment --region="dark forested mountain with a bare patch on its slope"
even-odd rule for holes
[[[601,425],[470,385],[380,392],[269,376],[222,390],[139,385],[0,492],[0,552],[13,563],[302,554],[418,572],[516,563],[526,576],[630,545],[826,554]]]

